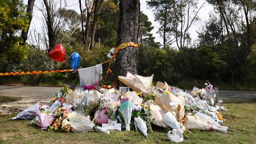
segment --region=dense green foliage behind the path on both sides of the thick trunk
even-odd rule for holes
[[[33,70],[65,70],[70,69],[68,63],[59,63],[48,57],[46,51],[37,48],[34,44],[19,44],[20,38],[15,34],[26,28],[26,17],[24,6],[20,0],[20,13],[11,16],[11,5],[1,7],[0,15],[5,21],[0,23],[0,72],[19,72]],[[14,6],[13,7],[18,7]],[[15,12],[15,11],[14,11]],[[9,15],[9,16],[8,16]],[[78,15],[78,14],[77,14]],[[108,0],[102,6],[99,14],[98,25],[95,33],[95,47],[88,50],[88,44],[82,43],[80,28],[72,28],[70,31],[60,31],[58,41],[65,47],[67,61],[72,52],[78,52],[81,56],[80,68],[94,66],[108,60],[107,54],[115,47],[119,19],[119,6],[116,0]],[[9,18],[8,18],[9,17]],[[80,17],[79,15],[77,17]],[[20,20],[17,26],[14,24]],[[74,22],[79,21],[74,19]],[[11,22],[11,26],[6,27]],[[17,23],[17,22],[16,22]],[[16,27],[15,27],[15,26]],[[71,23],[72,25],[72,23]],[[161,46],[154,41],[150,31],[152,23],[148,21],[147,15],[141,13],[141,24],[139,29],[139,75],[151,76],[154,81],[166,81],[170,85],[194,83],[196,81],[210,80],[215,84],[250,83],[256,80],[256,25],[250,25],[252,35],[250,42],[247,37],[246,26],[237,27],[236,33],[231,36],[226,34],[223,21],[219,17],[211,16],[200,30],[198,39],[193,45],[184,46],[181,50],[172,48],[169,44]],[[11,27],[16,29],[12,29]],[[10,28],[10,29],[8,29]],[[7,37],[6,35],[13,35]],[[14,39],[14,40],[10,40]],[[12,43],[6,43],[6,41]],[[7,42],[8,42],[7,41]],[[99,42],[100,41],[100,42]],[[8,56],[8,57],[7,57]],[[8,60],[9,59],[9,60]],[[112,65],[113,66],[113,65]],[[104,77],[108,63],[103,65]],[[113,68],[112,68],[113,70]],[[113,77],[108,76],[104,80],[111,84]],[[78,84],[78,74],[52,73],[41,75],[24,76],[0,76],[0,83],[23,83],[23,84],[49,84],[60,85],[65,82]],[[246,86],[248,87],[248,85]]]

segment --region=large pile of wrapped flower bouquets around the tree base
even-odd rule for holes
[[[73,87],[66,83],[50,103],[36,103],[12,119],[33,119],[30,124],[48,131],[95,130],[107,134],[110,132],[108,127],[103,128],[104,124],[119,124],[117,130],[139,129],[146,138],[147,132],[153,133],[151,124],[154,124],[172,129],[167,134],[172,142],[182,142],[190,129],[222,133],[228,129],[220,125],[225,119],[219,109],[225,109],[220,107],[218,89],[208,81],[204,89],[194,87],[186,92],[159,81],[152,85],[153,75],[128,73],[126,77],[119,76],[119,80],[127,89],[119,91],[98,83]]]

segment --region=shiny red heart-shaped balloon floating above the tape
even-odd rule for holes
[[[61,44],[57,44],[53,50],[49,52],[51,59],[55,61],[66,61],[66,51]]]

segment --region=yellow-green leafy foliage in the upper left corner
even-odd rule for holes
[[[22,0],[1,0],[0,17],[0,57],[5,63],[19,63],[28,55],[28,48],[19,45],[18,34],[29,26]]]

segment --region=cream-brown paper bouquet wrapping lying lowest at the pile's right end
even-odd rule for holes
[[[186,129],[197,129],[197,130],[209,130],[210,126],[206,120],[199,118],[198,116],[186,116],[184,118],[183,126]]]

